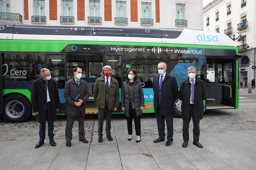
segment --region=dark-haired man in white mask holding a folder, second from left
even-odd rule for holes
[[[78,119],[79,141],[88,143],[85,139],[85,103],[90,93],[86,81],[82,80],[82,69],[75,67],[74,77],[65,83],[64,98],[67,103],[67,124],[65,130],[66,146],[71,147],[72,128],[75,119]]]

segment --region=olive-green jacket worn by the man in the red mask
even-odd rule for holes
[[[109,110],[113,110],[114,107],[119,107],[119,86],[117,80],[115,80],[112,76],[110,80],[109,86]],[[93,88],[93,98],[94,103],[97,108],[105,108],[105,75],[97,78],[94,88]]]

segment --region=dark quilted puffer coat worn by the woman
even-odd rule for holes
[[[144,94],[141,81],[138,79],[135,80],[132,86],[129,84],[129,80],[124,81],[122,86],[121,107],[125,108],[124,115],[127,117],[129,117],[129,104],[131,99],[134,100],[137,117],[141,116],[141,107],[144,107]]]

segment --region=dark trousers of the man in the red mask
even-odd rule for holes
[[[99,112],[98,112],[98,118],[99,118],[99,125],[98,125],[98,133],[99,133],[99,137],[102,137],[103,134],[103,122],[104,122],[104,118],[105,115],[107,117],[106,120],[106,135],[110,135],[111,132],[111,116],[112,116],[112,110],[109,110],[108,107],[105,108],[98,108]]]

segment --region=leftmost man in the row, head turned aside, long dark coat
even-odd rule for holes
[[[56,111],[60,108],[60,97],[56,81],[51,79],[48,69],[40,70],[41,77],[32,83],[31,103],[36,114],[36,120],[40,122],[39,142],[35,148],[44,144],[46,120],[48,122],[48,137],[51,146],[56,146],[53,140],[53,121],[57,120]]]

